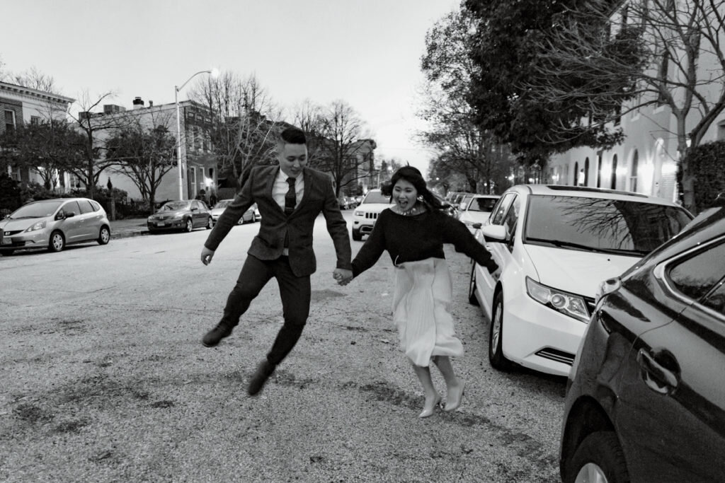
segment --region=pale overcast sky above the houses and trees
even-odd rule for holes
[[[174,101],[174,85],[216,67],[254,73],[291,109],[343,99],[378,143],[376,157],[427,169],[415,143],[416,93],[426,30],[460,0],[3,1],[5,70],[36,67],[59,93],[115,91]],[[198,77],[197,77],[198,78]],[[192,85],[194,81],[187,85]],[[186,99],[186,88],[179,95]]]

